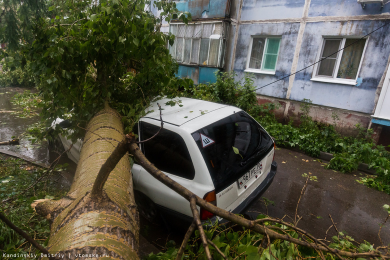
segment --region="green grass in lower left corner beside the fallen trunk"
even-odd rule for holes
[[[65,194],[50,178],[51,171],[22,159],[0,154],[0,212],[32,238],[45,245],[49,222],[37,215],[30,204],[35,199],[59,198]],[[33,259],[40,253],[0,221],[2,259]],[[5,256],[5,257],[4,257]]]

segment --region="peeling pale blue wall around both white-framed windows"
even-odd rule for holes
[[[262,87],[291,73],[296,46],[299,49],[297,71],[316,61],[323,36],[364,36],[390,21],[390,3],[383,8],[376,3],[366,4],[362,9],[356,0],[311,0],[307,16],[303,17],[304,2],[243,0],[233,64],[237,78],[243,76],[246,68],[251,35],[281,36],[275,74],[254,73],[256,87]],[[377,14],[387,16],[378,19],[375,17]],[[297,42],[300,26],[304,26],[302,41]],[[389,24],[368,36],[358,75],[362,79],[359,86],[312,81],[311,66],[295,74],[289,98],[307,98],[318,105],[371,113],[375,105],[375,92],[390,55],[388,31]],[[258,89],[257,93],[286,98],[288,87],[287,77]]]

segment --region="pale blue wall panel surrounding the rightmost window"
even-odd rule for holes
[[[360,7],[360,6],[358,6]],[[360,7],[361,9],[361,7]],[[384,21],[334,21],[306,24],[298,59],[298,70],[315,62],[322,35],[364,36]],[[307,98],[315,104],[371,113],[375,104],[375,91],[385,72],[390,54],[389,27],[385,26],[369,35],[358,77],[359,86],[311,81],[313,66],[295,75],[290,99]],[[320,32],[320,33],[318,33]]]

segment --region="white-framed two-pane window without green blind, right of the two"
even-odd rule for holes
[[[367,42],[358,39],[323,38],[312,80],[355,84]]]

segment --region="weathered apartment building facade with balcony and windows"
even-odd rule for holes
[[[311,100],[314,120],[343,133],[360,123],[386,144],[389,1],[177,0],[192,21],[164,29],[176,35],[169,50],[179,76],[196,84],[216,70],[249,72],[259,102],[278,102],[280,117],[297,120],[301,101]]]

